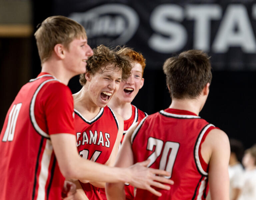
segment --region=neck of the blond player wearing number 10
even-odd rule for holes
[[[74,74],[67,71],[64,67],[62,67],[60,62],[52,60],[48,60],[42,64],[41,72],[46,72],[53,75],[66,86],[68,85],[69,80],[75,76]]]

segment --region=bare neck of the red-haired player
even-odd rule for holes
[[[111,99],[108,106],[120,114],[124,120],[129,119],[132,116],[131,102],[120,101],[118,98]]]

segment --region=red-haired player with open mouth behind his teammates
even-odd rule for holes
[[[133,66],[131,76],[129,76],[126,81],[123,80],[120,83],[119,90],[108,103],[108,106],[114,111],[118,112],[124,119],[123,141],[124,135],[128,128],[147,116],[147,113],[139,110],[135,105],[131,104],[144,84],[144,79],[142,77],[146,63],[142,54],[133,51],[131,48],[120,48],[117,53],[128,56],[132,60]],[[102,198],[106,200],[107,197],[105,192],[100,190],[100,193]],[[134,187],[131,185],[126,185],[125,194],[127,200],[134,199]]]

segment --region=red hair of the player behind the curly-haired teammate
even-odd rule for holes
[[[146,59],[143,57],[143,55],[140,52],[136,52],[132,48],[125,47],[125,46],[123,47],[118,46],[116,48],[116,51],[117,51],[117,54],[128,56],[133,62],[139,63],[142,67],[142,77],[143,77],[143,72],[146,67]]]

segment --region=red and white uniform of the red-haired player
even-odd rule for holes
[[[123,142],[124,135],[127,132],[127,130],[132,125],[134,125],[137,121],[140,121],[145,116],[148,116],[148,114],[146,112],[141,111],[135,105],[131,105],[131,106],[132,106],[132,116],[129,119],[124,120],[124,132],[123,132],[123,137],[121,139],[121,143]],[[107,200],[106,193],[103,188],[100,188],[100,194],[101,194],[103,200]],[[125,185],[125,198],[126,198],[126,200],[134,199],[134,187],[132,185],[129,185],[129,184]]]

